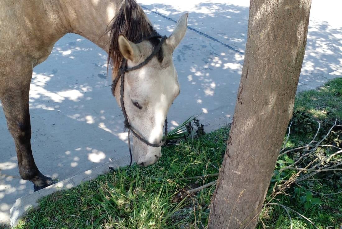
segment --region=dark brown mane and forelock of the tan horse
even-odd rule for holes
[[[116,73],[120,67],[123,58],[118,44],[120,34],[126,36],[131,42],[137,43],[155,32],[145,12],[135,0],[122,0],[122,5],[113,19],[110,30],[107,66],[111,64],[113,73]],[[150,42],[155,47],[159,44],[159,39],[152,38]],[[158,60],[160,59],[162,59],[162,53],[158,53]]]

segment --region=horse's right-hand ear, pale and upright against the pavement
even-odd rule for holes
[[[186,27],[188,24],[188,15],[189,13],[185,13],[180,17],[177,24],[174,26],[172,34],[168,37],[168,39],[165,40],[166,44],[169,45],[172,52],[185,35]]]

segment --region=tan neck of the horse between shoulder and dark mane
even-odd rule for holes
[[[92,41],[107,53],[110,31],[108,25],[121,5],[120,0],[61,0],[71,33]]]

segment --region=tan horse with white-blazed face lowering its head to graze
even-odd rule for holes
[[[113,95],[124,105],[126,125],[135,131],[134,159],[142,166],[158,161],[161,149],[153,145],[160,144],[168,110],[180,92],[172,52],[185,35],[187,16],[181,16],[169,37],[161,38],[134,0],[1,0],[0,99],[22,179],[31,181],[35,191],[54,183],[39,171],[32,155],[29,89],[33,68],[67,33],[79,34],[108,53],[116,82]],[[121,63],[126,70],[136,68],[120,72]],[[123,76],[124,81],[116,79]]]

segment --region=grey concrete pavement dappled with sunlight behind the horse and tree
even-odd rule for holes
[[[230,122],[244,59],[249,1],[139,2],[162,35],[169,35],[174,21],[189,12],[190,28],[173,55],[181,94],[168,115],[171,126],[200,113],[207,131]],[[313,1],[298,91],[342,76],[341,6],[333,0]],[[45,175],[63,180],[128,155],[127,134],[123,133],[121,110],[111,95],[106,60],[106,53],[93,43],[68,34],[34,69],[32,150]],[[19,176],[2,109],[0,168],[0,174]],[[32,192],[31,183],[0,176],[0,222],[7,222],[17,198]]]

